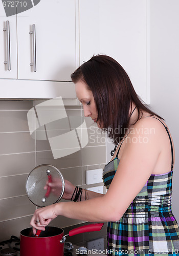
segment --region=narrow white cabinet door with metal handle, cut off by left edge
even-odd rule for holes
[[[4,3],[6,4],[6,2]],[[9,23],[8,25],[7,21]],[[9,38],[7,38],[8,29]],[[8,61],[8,54],[10,65],[5,65],[4,62]],[[16,15],[6,17],[2,3],[0,3],[0,78],[17,78]]]

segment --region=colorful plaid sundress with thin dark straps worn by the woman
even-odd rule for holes
[[[173,168],[171,138],[170,143]],[[118,168],[118,154],[119,151],[104,167],[103,182],[107,189]],[[172,168],[166,174],[151,175],[121,219],[108,222],[108,254],[179,256],[179,228],[171,208]]]

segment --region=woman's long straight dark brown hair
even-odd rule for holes
[[[114,143],[120,142],[128,128],[128,114],[132,102],[137,106],[137,121],[142,111],[161,118],[147,108],[133,89],[125,70],[109,56],[93,56],[84,62],[71,75],[71,78],[74,83],[79,80],[85,82],[88,90],[92,91],[98,113],[97,120],[100,121],[103,130],[107,131],[108,137],[113,139]]]

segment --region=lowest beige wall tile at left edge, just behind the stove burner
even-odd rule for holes
[[[11,236],[20,237],[20,231],[29,228],[32,216],[17,218],[10,221],[0,222],[0,241],[10,239]]]

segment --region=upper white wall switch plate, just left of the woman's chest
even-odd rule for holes
[[[93,169],[93,170],[86,170],[86,184],[95,184],[101,183],[103,175],[103,169]]]

